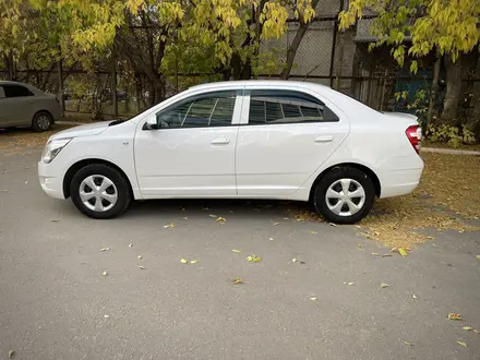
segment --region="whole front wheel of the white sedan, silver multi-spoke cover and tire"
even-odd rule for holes
[[[108,219],[120,215],[130,204],[130,185],[117,169],[92,164],[80,169],[70,183],[76,208],[86,216]]]

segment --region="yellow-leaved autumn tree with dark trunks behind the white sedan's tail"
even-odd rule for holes
[[[437,55],[435,79],[430,96],[429,118],[433,115],[441,58],[446,64],[446,96],[442,121],[458,125],[457,108],[460,96],[461,53],[471,51],[480,38],[480,1],[472,0],[352,0],[339,15],[340,27],[346,28],[361,19],[365,9],[374,10],[377,17],[371,28],[377,41],[372,47],[388,45],[392,55],[403,65],[407,57],[410,70],[417,72],[417,58],[431,51]],[[411,36],[407,48],[405,38]]]

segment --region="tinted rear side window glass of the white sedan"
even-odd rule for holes
[[[249,124],[338,121],[321,100],[295,91],[252,91]]]

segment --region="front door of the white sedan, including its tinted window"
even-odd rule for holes
[[[236,93],[202,96],[160,111],[159,130],[137,130],[135,166],[144,197],[237,195]]]

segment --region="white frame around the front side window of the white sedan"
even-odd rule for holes
[[[236,93],[235,94],[235,101],[233,101],[233,110],[232,110],[232,116],[231,116],[231,122],[230,124],[225,124],[225,125],[215,125],[215,127],[211,127],[211,121],[212,121],[212,116],[215,111],[216,105],[218,103],[219,97],[216,99],[215,101],[215,106],[213,108],[213,110],[211,111],[211,115],[208,117],[208,124],[207,125],[203,125],[203,127],[189,127],[189,128],[183,128],[183,123],[187,120],[187,117],[193,106],[193,104],[195,104],[195,98],[203,98],[203,97],[208,97],[208,95],[211,94],[216,94],[216,93],[228,93],[228,92],[232,92]],[[216,89],[208,89],[207,92],[199,92],[199,93],[194,93],[191,94],[187,97],[182,97],[177,99],[176,101],[171,101],[169,104],[167,104],[165,107],[161,107],[157,110],[153,110],[152,112],[149,112],[145,118],[144,121],[141,121],[141,123],[145,124],[147,122],[147,119],[154,117],[155,119],[157,119],[158,113],[164,112],[164,111],[168,111],[173,109],[175,107],[179,106],[180,103],[188,103],[189,99],[192,100],[192,103],[189,106],[189,109],[185,112],[185,116],[183,117],[182,120],[182,125],[180,128],[158,128],[155,130],[194,130],[194,129],[216,129],[216,128],[229,128],[229,127],[238,127],[240,124],[240,117],[241,117],[241,106],[242,106],[242,101],[243,101],[243,87],[241,88],[216,88]],[[142,125],[143,130],[147,130],[144,128],[144,125]]]

